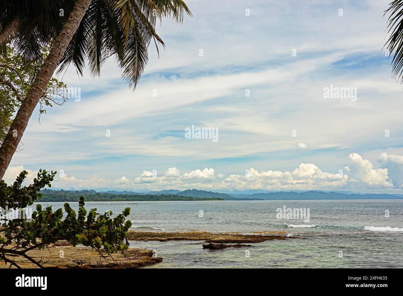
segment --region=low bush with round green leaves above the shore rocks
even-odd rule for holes
[[[26,171],[21,172],[11,186],[4,180],[0,181],[0,205],[3,209],[31,206],[42,197],[39,190],[51,186],[56,172],[39,170],[33,184],[23,186],[27,174]],[[97,209],[91,209],[87,212],[84,201],[85,198],[80,197],[77,213],[69,203],[64,204],[64,210],[60,208],[56,211],[52,210],[52,206],[42,208],[37,204],[31,217],[4,219],[5,223],[0,226],[0,259],[17,266],[7,258],[7,254],[22,255],[42,267],[43,264],[34,261],[26,252],[42,249],[57,240],[67,240],[73,246],[83,244],[98,251],[104,249],[108,254],[127,250],[128,246],[123,240],[131,227],[131,221],[125,218],[130,208],[111,218],[112,211],[100,214],[96,212]]]

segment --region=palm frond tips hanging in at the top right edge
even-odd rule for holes
[[[388,34],[386,52],[392,55],[392,77],[403,83],[403,0],[394,0],[385,11],[390,13],[388,18]]]

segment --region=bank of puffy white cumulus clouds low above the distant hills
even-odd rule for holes
[[[115,188],[122,190],[205,189],[205,190],[357,190],[370,192],[400,193],[403,184],[403,156],[381,153],[380,168],[375,168],[358,153],[351,153],[344,171],[324,172],[315,164],[302,163],[292,171],[263,170],[250,168],[245,174],[215,174],[213,168],[196,169],[181,174],[176,167],[162,174],[143,170],[134,179],[122,176],[116,180],[94,175],[85,179],[75,176],[56,175],[52,186],[56,188]],[[10,167],[4,180],[8,184],[24,170],[23,166]],[[32,182],[37,172],[28,171],[27,182]],[[344,174],[343,174],[344,172]],[[155,174],[154,174],[155,173]],[[26,182],[26,183],[27,183]],[[392,191],[391,191],[392,190]]]

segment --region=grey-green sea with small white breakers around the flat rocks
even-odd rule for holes
[[[63,203],[41,203],[53,205]],[[71,207],[76,205],[70,203]],[[302,208],[309,221],[278,209]],[[145,268],[401,268],[403,200],[343,201],[143,201],[87,202],[86,208],[114,214],[131,208],[134,230],[284,231],[299,239],[269,240],[251,247],[203,249],[203,241],[130,241],[156,251],[162,263]],[[287,216],[285,216],[287,218]]]

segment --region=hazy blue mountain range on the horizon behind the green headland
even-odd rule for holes
[[[102,200],[112,198],[113,200],[118,200],[119,196],[121,200],[162,200],[169,196],[168,200],[184,200],[184,197],[194,198],[194,199],[224,199],[224,200],[235,200],[235,201],[245,201],[245,200],[319,200],[319,199],[403,199],[403,195],[391,195],[386,193],[381,194],[345,194],[338,192],[323,192],[323,191],[305,191],[305,192],[294,192],[294,191],[280,191],[280,192],[269,192],[269,193],[253,193],[253,194],[227,194],[227,193],[217,193],[212,191],[188,189],[188,190],[161,190],[161,191],[150,191],[144,192],[133,192],[133,191],[116,191],[109,190],[103,192],[97,192],[95,190],[42,190],[44,197],[54,196],[56,193],[60,193],[62,196],[78,196],[78,195],[88,195],[93,197],[97,195],[102,196]],[[60,194],[57,194],[60,196]],[[134,197],[137,196],[137,197]],[[140,197],[145,196],[147,197]],[[158,198],[158,196],[164,195],[164,197]],[[125,196],[125,197],[123,197]],[[111,199],[112,200],[112,199]],[[190,199],[188,199],[190,200]]]

